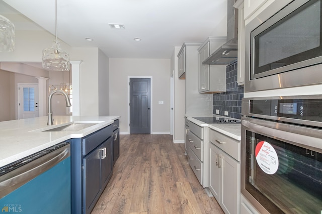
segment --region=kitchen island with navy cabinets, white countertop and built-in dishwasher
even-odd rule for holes
[[[47,117],[0,122],[0,202],[9,211],[90,213],[112,176],[119,116],[55,116],[46,124]]]

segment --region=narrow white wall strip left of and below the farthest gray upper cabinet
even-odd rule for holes
[[[176,46],[171,57],[171,72],[174,72],[174,136],[175,143],[185,141],[185,80],[178,78],[178,53],[181,47]]]

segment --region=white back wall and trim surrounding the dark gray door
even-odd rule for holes
[[[110,115],[120,115],[128,134],[128,76],[152,77],[152,134],[170,133],[170,59],[110,58]],[[159,105],[158,101],[164,101]]]

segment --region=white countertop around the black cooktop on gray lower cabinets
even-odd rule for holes
[[[220,116],[220,115],[194,115],[194,116],[191,116],[191,115],[186,115],[187,119],[190,120],[191,122],[197,124],[198,126],[202,126],[202,127],[209,127],[215,131],[218,131],[222,134],[225,134],[235,140],[238,140],[240,141],[241,140],[241,136],[240,136],[240,133],[241,133],[241,126],[240,126],[240,123],[212,123],[212,124],[208,124],[208,123],[205,123],[205,122],[202,122],[200,120],[197,120],[193,117],[223,117],[223,116]],[[229,118],[229,119],[232,119],[232,118]]]

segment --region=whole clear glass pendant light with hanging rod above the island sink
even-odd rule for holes
[[[57,0],[55,0],[55,40],[50,48],[42,51],[42,67],[54,71],[69,71],[69,55],[60,49],[57,40]]]

